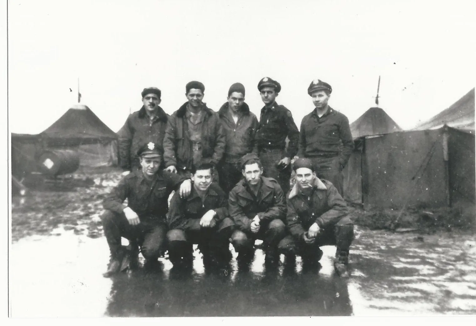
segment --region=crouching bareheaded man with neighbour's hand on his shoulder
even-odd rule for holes
[[[206,268],[219,267],[231,259],[229,237],[234,229],[228,217],[226,194],[213,181],[213,165],[192,168],[193,187],[187,199],[174,194],[167,217],[169,259],[191,267],[192,244],[198,244]]]

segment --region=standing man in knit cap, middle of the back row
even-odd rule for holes
[[[220,186],[227,193],[243,178],[241,157],[247,153],[258,154],[255,134],[258,118],[245,103],[245,86],[235,83],[228,90],[227,102],[218,110],[227,144],[220,164]]]

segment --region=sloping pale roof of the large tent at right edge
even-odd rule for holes
[[[466,133],[475,131],[475,89],[470,90],[447,109],[441,111],[428,121],[425,121],[414,130],[439,129],[447,125]]]

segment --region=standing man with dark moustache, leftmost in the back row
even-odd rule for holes
[[[142,107],[129,115],[119,130],[119,163],[126,171],[141,169],[137,151],[149,142],[159,144],[162,150],[165,127],[169,115],[159,106],[160,89],[147,87],[141,93]],[[127,174],[127,173],[125,173]]]

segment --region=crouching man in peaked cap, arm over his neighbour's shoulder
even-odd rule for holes
[[[134,242],[137,240],[146,265],[155,266],[160,253],[165,249],[169,195],[173,190],[184,197],[190,193],[190,180],[159,170],[162,160],[159,144],[145,144],[137,155],[141,170],[124,177],[103,201],[106,211],[101,215],[101,221],[111,253],[104,277],[118,272],[122,260],[126,258],[121,237]],[[126,199],[127,206],[123,204]]]

